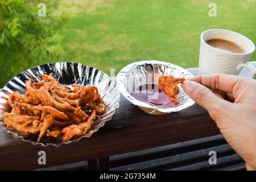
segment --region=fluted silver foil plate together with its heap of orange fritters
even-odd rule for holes
[[[112,119],[120,100],[115,81],[106,73],[67,62],[27,69],[0,95],[3,129],[42,146],[90,137]]]

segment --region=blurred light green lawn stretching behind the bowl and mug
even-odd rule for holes
[[[200,34],[210,28],[240,32],[256,43],[255,1],[105,0],[61,5],[69,16],[61,60],[79,61],[109,74],[138,60],[197,67]],[[256,60],[256,54],[250,60]]]

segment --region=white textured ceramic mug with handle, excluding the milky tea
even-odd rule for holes
[[[205,41],[210,39],[224,39],[238,44],[245,53],[226,52],[218,48],[209,46]],[[243,67],[249,68],[256,78],[256,69],[251,64],[247,64],[253,54],[255,46],[250,39],[237,32],[212,29],[206,30],[200,37],[199,73],[207,75],[212,73],[226,73],[239,75]]]

